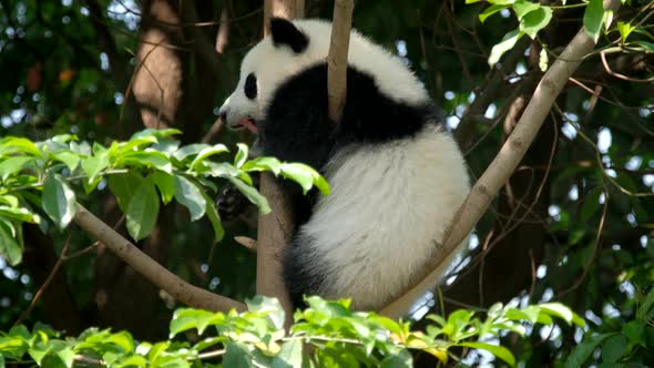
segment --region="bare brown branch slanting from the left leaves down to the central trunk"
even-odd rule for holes
[[[210,293],[181,279],[177,275],[154,262],[134,244],[122,237],[113,228],[95,217],[95,215],[80,204],[78,204],[78,212],[73,222],[102,242],[102,244],[132,266],[139,274],[166,290],[176,300],[180,300],[190,307],[213,311],[228,311],[229,309],[242,311],[246,309],[246,306],[243,303]]]

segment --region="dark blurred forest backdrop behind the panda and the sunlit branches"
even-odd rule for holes
[[[482,24],[484,8],[457,0],[357,1],[354,14],[354,27],[402,58],[443,108],[473,177],[518,121],[544,55],[551,64],[583,16],[583,8],[555,9],[537,41],[523,38],[490,69],[490,49],[518,21],[503,10]],[[331,1],[306,1],[307,17],[331,12]],[[654,42],[653,12],[650,1],[633,0],[615,20],[643,20],[635,37]],[[222,130],[216,113],[262,34],[259,0],[0,0],[0,135],[74,133],[108,143],[165,125],[183,130],[185,143],[252,142]],[[416,307],[418,324],[441,308],[548,300],[585,317],[587,331],[620,331],[634,319],[654,280],[654,54],[621,50],[617,39],[609,32],[600,40],[606,65],[600,53],[589,55],[569,82],[471,236],[470,253],[441,293]],[[124,233],[114,198],[100,193],[83,201]],[[232,238],[255,237],[256,213],[249,208],[225,225],[227,236],[212,247],[206,219],[192,223],[171,204],[139,246],[185,279],[243,299],[254,293],[255,258]],[[43,235],[25,227],[24,262],[13,268],[0,259],[0,329],[32,301],[67,241],[71,252],[93,244],[76,228]],[[67,260],[40,293],[28,320],[70,333],[99,325],[156,339],[178,306],[101,246]],[[651,330],[647,339],[654,339]],[[583,333],[533,330],[530,344],[513,350],[527,366],[550,366]]]

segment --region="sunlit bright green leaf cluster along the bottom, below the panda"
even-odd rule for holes
[[[427,333],[408,323],[374,313],[349,310],[349,300],[306,299],[295,325],[284,329],[284,310],[276,299],[256,297],[249,310],[210,313],[178,309],[170,325],[170,340],[135,341],[129,333],[90,328],[76,338],[61,338],[45,326],[30,333],[18,326],[0,337],[0,365],[25,361],[38,366],[73,367],[411,367],[411,350],[440,361],[459,359],[464,349],[483,349],[510,366],[513,355],[490,339],[505,333],[524,336],[525,327],[553,325],[555,319],[583,326],[583,320],[559,304],[514,308],[493,306],[481,318],[461,309],[448,318],[430,315]],[[185,338],[185,340],[182,340]],[[457,350],[459,349],[459,350]]]

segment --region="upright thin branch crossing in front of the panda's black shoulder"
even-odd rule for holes
[[[336,0],[331,25],[331,41],[327,55],[327,94],[329,95],[329,117],[340,121],[347,95],[347,52],[352,22],[354,0]]]

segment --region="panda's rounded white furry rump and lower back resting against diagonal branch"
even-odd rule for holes
[[[356,308],[377,308],[406,287],[469,188],[456,143],[432,124],[413,137],[344,149],[326,176],[331,194],[300,227],[294,262],[318,277],[311,292],[351,297]]]

